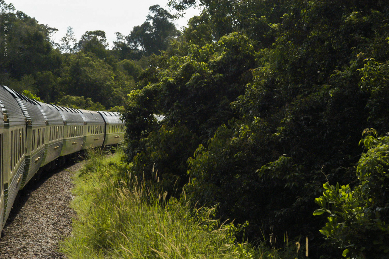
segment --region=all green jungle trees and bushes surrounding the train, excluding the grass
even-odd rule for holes
[[[131,175],[216,208],[254,244],[288,236],[307,238],[311,258],[387,258],[387,2],[170,6],[203,11],[179,32],[151,6],[112,49],[103,31],[76,41],[71,28],[56,45],[54,28],[16,11],[19,49],[0,81],[47,102],[121,106]]]

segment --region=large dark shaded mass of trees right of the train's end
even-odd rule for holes
[[[249,220],[254,236],[308,235],[317,252],[323,183],[355,184],[361,132],[388,131],[388,5],[171,4],[204,11],[131,92],[128,162],[223,218]]]

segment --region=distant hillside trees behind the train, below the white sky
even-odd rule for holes
[[[140,32],[140,26],[135,26],[127,41],[117,33],[118,41],[112,49],[108,49],[104,31],[87,31],[77,41],[71,27],[58,44],[51,40],[57,29],[16,11],[4,0],[0,8],[8,13],[0,29],[5,25],[9,29],[8,37],[1,38],[2,46],[7,42],[8,55],[0,60],[0,83],[64,106],[123,111],[149,56],[166,49],[179,35],[173,16],[153,5],[144,23],[148,29]],[[81,97],[92,103],[84,105],[75,100]]]

